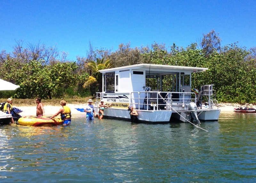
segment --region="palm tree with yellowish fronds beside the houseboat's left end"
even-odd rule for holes
[[[110,68],[110,60],[104,60],[104,58],[97,58],[96,62],[94,60],[89,61],[87,63],[87,67],[92,69],[92,73],[91,76],[89,76],[84,82],[83,87],[90,87],[90,92],[93,95],[96,88],[98,88],[99,90],[101,90],[102,88],[102,75],[99,70]],[[96,85],[93,85],[95,83]]]

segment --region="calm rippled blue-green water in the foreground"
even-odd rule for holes
[[[218,122],[0,127],[1,182],[255,182],[256,114]]]

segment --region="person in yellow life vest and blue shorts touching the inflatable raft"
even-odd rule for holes
[[[67,104],[67,102],[65,100],[61,100],[60,105],[62,107],[60,108],[60,110],[55,115],[50,117],[50,119],[52,119],[53,117],[60,114],[60,117],[63,121],[62,124],[64,126],[66,126],[66,125],[68,126],[69,124],[71,124],[71,111],[70,111],[70,108],[68,106],[66,106],[66,104]]]

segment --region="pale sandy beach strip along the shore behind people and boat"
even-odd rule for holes
[[[83,113],[76,110],[76,108],[85,108],[87,104],[67,104],[68,107],[71,109],[72,115],[82,115]],[[13,106],[17,107],[23,112],[20,113],[21,116],[35,116],[36,115],[36,105],[35,106]],[[61,106],[44,106],[45,115],[53,115],[59,111]],[[234,104],[234,103],[220,103],[220,113],[223,112],[234,112],[234,108],[238,107],[251,107],[256,108],[255,105],[248,104],[248,105],[240,105],[240,104]]]

